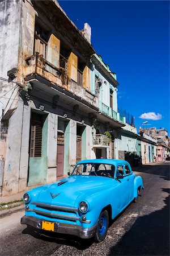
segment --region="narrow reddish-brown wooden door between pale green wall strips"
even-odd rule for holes
[[[64,161],[64,135],[58,133],[57,137],[57,177],[63,176]]]

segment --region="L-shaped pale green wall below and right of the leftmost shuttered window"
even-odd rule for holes
[[[45,115],[42,127],[42,156],[29,158],[28,186],[46,183],[48,118]]]

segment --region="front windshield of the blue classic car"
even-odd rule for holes
[[[115,167],[113,164],[82,163],[76,164],[71,175],[104,176],[114,177]]]

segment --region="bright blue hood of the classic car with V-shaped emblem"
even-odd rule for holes
[[[59,185],[61,182],[63,184]],[[85,200],[88,196],[110,188],[111,185],[114,186],[114,179],[108,177],[69,176],[42,188],[38,196],[38,202],[73,207],[79,196]]]

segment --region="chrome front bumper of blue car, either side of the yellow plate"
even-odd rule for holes
[[[33,228],[41,229],[42,220],[33,216],[23,216],[20,220],[21,224],[33,226]],[[95,236],[96,225],[91,228],[82,228],[82,226],[74,224],[65,224],[54,222],[54,232],[61,234],[71,234],[82,239],[89,239]]]

